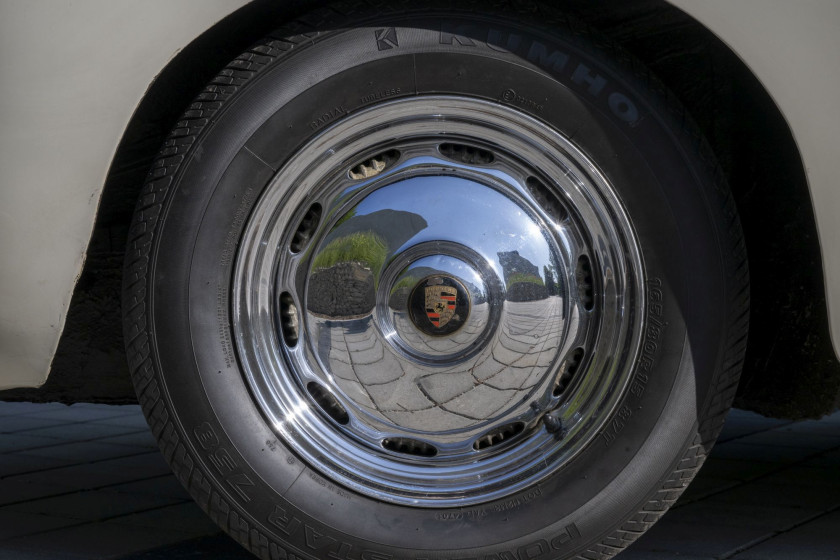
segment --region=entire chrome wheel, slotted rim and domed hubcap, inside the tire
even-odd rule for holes
[[[469,295],[442,336],[411,317],[430,278]],[[233,329],[257,406],[309,465],[379,500],[463,506],[593,441],[630,378],[642,286],[621,202],[568,138],[417,97],[344,117],[276,174],[240,244]]]

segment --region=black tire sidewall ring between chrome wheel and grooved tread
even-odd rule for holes
[[[510,48],[514,36],[520,43]],[[704,414],[718,370],[721,218],[674,123],[626,72],[538,28],[393,21],[322,35],[253,78],[207,125],[168,195],[150,328],[179,432],[242,518],[308,554],[465,557],[463,549],[476,549],[467,556],[507,551],[531,560],[598,540],[604,519],[615,526],[658,488]],[[464,509],[378,502],[308,468],[254,405],[230,326],[236,243],[276,169],[346,114],[428,94],[504,103],[571,137],[619,194],[645,263],[644,342],[602,433],[540,484]],[[632,103],[635,118],[615,99]]]

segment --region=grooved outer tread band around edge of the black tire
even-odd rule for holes
[[[434,5],[442,10],[453,11],[451,3],[437,2]],[[147,320],[149,255],[162,223],[160,218],[165,215],[170,187],[190,157],[193,145],[243,86],[258,78],[265,68],[315,42],[323,34],[320,30],[336,23],[346,24],[348,20],[364,20],[377,12],[406,13],[412,10],[419,11],[420,8],[402,0],[338,2],[332,7],[318,9],[288,23],[236,57],[196,97],[168,135],[147,175],[129,230],[122,306],[129,369],[139,402],[166,460],[193,499],[223,530],[262,559],[297,560],[302,556],[293,552],[285,543],[272,540],[258,527],[252,526],[247,517],[233,509],[227,497],[209,482],[204,471],[197,465],[192,451],[184,445],[176,420],[170,414],[169,404],[161,392],[158,382],[160,376],[150,344],[153,333],[149,330]],[[429,6],[424,6],[422,10],[428,11]],[[466,0],[458,4],[457,10],[465,13],[504,12],[507,17],[515,14],[538,22],[534,24],[537,29],[555,32],[557,29],[565,30],[578,46],[585,49],[592,47],[598,51],[600,62],[606,67],[633,76],[641,88],[659,100],[662,114],[670,119],[672,130],[679,132],[680,142],[690,147],[703,163],[705,174],[712,178],[713,192],[717,198],[714,203],[723,209],[726,224],[721,231],[725,233],[725,238],[720,242],[726,247],[723,254],[730,256],[726,265],[731,271],[730,285],[733,289],[729,296],[729,317],[725,325],[725,332],[729,334],[725,337],[726,348],[721,352],[723,358],[713,380],[714,388],[710,391],[710,399],[695,439],[675,462],[670,474],[661,481],[660,487],[644,503],[639,504],[637,513],[600,539],[599,544],[576,556],[579,560],[613,558],[650,529],[680,497],[703,465],[735,396],[749,321],[749,270],[735,202],[711,147],[685,109],[639,61],[615,43],[604,39],[587,25],[569,19],[562,12],[536,2],[514,4]]]

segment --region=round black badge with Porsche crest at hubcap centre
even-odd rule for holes
[[[460,329],[470,314],[470,296],[450,276],[430,276],[414,287],[408,299],[411,320],[430,336],[445,336]]]

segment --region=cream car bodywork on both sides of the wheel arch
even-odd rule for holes
[[[840,2],[671,2],[733,48],[793,129],[840,349]],[[179,49],[245,3],[0,5],[0,389],[46,380],[111,159],[143,94]]]

